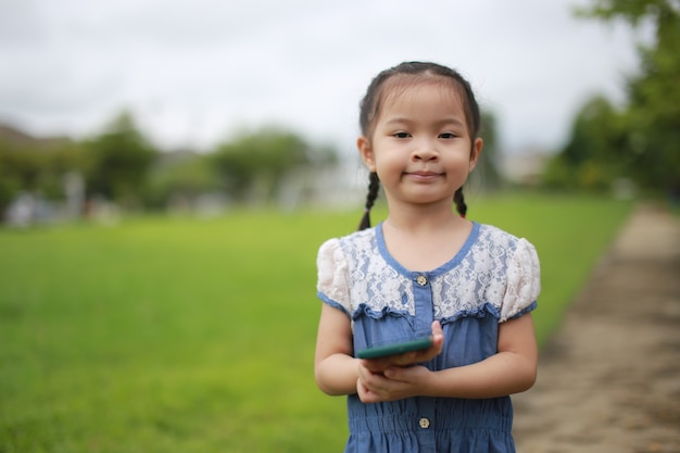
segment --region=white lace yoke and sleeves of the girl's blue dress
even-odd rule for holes
[[[319,297],[352,317],[358,312],[414,316],[414,278],[424,274],[431,285],[437,319],[483,313],[504,322],[532,310],[540,292],[533,246],[489,225],[481,225],[471,240],[467,253],[456,256],[450,266],[408,273],[400,272],[380,253],[376,228],[330,239],[317,257]]]

